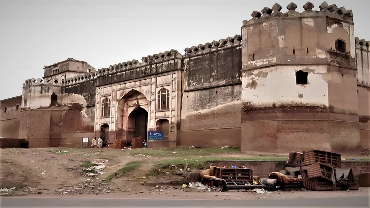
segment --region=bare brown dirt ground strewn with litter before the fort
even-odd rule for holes
[[[58,153],[57,151],[68,151]],[[176,151],[176,152],[175,152]],[[220,153],[221,152],[221,153]],[[273,194],[252,194],[246,192],[210,192],[199,191],[190,188],[181,188],[180,185],[163,185],[155,188],[158,184],[168,180],[178,180],[181,176],[168,174],[162,177],[151,177],[146,175],[152,170],[152,165],[162,160],[171,158],[184,158],[189,156],[199,157],[233,157],[233,158],[268,158],[286,160],[287,154],[263,154],[240,153],[239,150],[219,149],[182,149],[169,150],[139,149],[139,150],[117,150],[96,148],[34,148],[34,149],[1,149],[0,188],[12,188],[15,190],[7,192],[11,196],[37,196],[59,195],[64,197],[88,197],[99,195],[99,197],[135,197],[135,198],[218,198],[243,199],[249,197],[310,197],[312,191],[274,192]],[[349,155],[353,156],[353,155]],[[106,166],[103,174],[89,177],[83,172],[84,162],[104,162]],[[120,178],[110,181],[104,180],[114,174],[120,168],[131,161],[141,161],[142,165],[135,168]],[[198,161],[198,160],[196,160]],[[200,170],[195,170],[200,171]],[[150,177],[150,176],[149,176]],[[317,193],[317,192],[316,192]],[[323,192],[320,192],[323,193]],[[364,195],[369,194],[369,189],[356,191],[327,192],[329,195]],[[1,194],[4,195],[4,194]]]

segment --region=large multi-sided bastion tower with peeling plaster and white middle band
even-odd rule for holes
[[[242,26],[242,151],[360,146],[351,10],[307,2],[253,11]]]

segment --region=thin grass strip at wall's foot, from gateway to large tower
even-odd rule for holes
[[[176,153],[172,153],[176,152]],[[130,155],[149,155],[152,157],[190,157],[194,155],[211,155],[211,154],[239,154],[240,148],[165,148],[165,149],[133,149],[129,151]]]

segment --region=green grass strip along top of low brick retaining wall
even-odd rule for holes
[[[215,161],[227,161],[227,160],[255,160],[255,161],[283,161],[282,157],[188,157],[188,158],[173,158],[166,159],[156,162],[152,169],[146,174],[146,176],[159,175],[164,171],[180,171],[180,169],[191,168],[191,169],[203,169],[206,164]],[[172,167],[175,165],[175,167]],[[161,170],[161,171],[159,171]]]

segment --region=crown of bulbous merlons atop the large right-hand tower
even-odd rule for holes
[[[332,4],[329,6],[326,1],[320,4],[320,11],[312,10],[313,7],[314,4],[308,1],[305,5],[303,5],[303,9],[305,9],[305,11],[299,13],[295,11],[297,9],[297,4],[292,2],[288,6],[286,6],[286,9],[288,9],[288,11],[286,13],[282,13],[280,12],[282,6],[280,6],[280,4],[278,3],[275,3],[272,8],[265,7],[261,10],[261,12],[253,11],[253,13],[250,15],[252,16],[252,19],[250,19],[249,21],[244,20],[243,26],[256,24],[272,18],[304,18],[317,16],[326,16],[332,19],[337,19],[353,24],[352,10],[346,10],[344,7],[338,8],[336,4]]]

